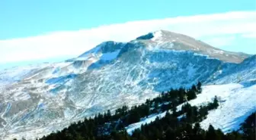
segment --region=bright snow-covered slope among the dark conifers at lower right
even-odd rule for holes
[[[212,124],[216,129],[222,129],[223,132],[229,130],[237,130],[241,123],[256,110],[256,85],[245,87],[240,84],[203,86],[203,92],[197,95],[197,98],[189,101],[194,106],[206,104],[213,101],[217,96],[219,99],[219,107],[211,110],[203,122],[200,123],[203,129],[208,129]],[[181,110],[181,105],[178,110]],[[148,118],[142,119],[139,123],[133,123],[126,127],[126,131],[131,134],[140,126],[151,123],[156,117],[165,117],[166,112],[162,114],[154,114]]]

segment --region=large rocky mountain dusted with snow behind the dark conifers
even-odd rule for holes
[[[256,55],[223,51],[164,30],[130,42],[103,42],[61,63],[0,71],[0,132],[5,139],[43,136],[198,81],[206,87],[250,87],[256,82],[255,63]]]

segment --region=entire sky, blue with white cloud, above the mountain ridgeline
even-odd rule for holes
[[[0,64],[72,58],[155,30],[256,54],[254,0],[1,0]],[[1,65],[0,65],[1,66]]]

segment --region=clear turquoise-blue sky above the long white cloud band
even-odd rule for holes
[[[1,0],[0,39],[133,20],[255,10],[254,0]]]

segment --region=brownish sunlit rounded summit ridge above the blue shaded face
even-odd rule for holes
[[[190,36],[166,30],[158,30],[145,36],[139,36],[137,40],[162,49],[194,51],[208,55],[211,58],[218,58],[221,61],[232,63],[241,63],[245,58],[249,57],[248,54],[223,51]]]

